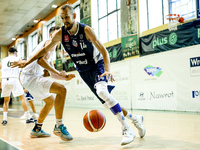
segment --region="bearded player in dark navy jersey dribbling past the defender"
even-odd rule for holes
[[[114,81],[113,75],[110,73],[110,58],[92,28],[76,22],[76,13],[73,7],[68,4],[61,7],[60,16],[64,26],[53,35],[51,42],[29,60],[14,62],[12,66],[23,68],[37,58],[44,56],[57,42],[61,42],[82,79],[104,107],[109,108],[120,121],[122,125],[121,145],[132,142],[136,135],[127,124],[123,112],[138,128],[140,137],[144,137],[143,116],[132,115],[123,108],[122,111],[118,101],[109,93],[111,89],[108,87],[107,81]]]

